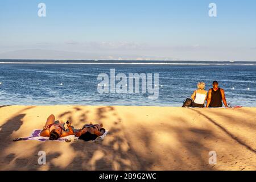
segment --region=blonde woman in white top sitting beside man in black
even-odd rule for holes
[[[192,107],[204,107],[204,101],[207,100],[207,91],[205,90],[205,83],[199,82],[197,84],[197,90],[192,94]]]

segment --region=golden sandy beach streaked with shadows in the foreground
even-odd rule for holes
[[[255,170],[256,108],[0,106],[1,170]],[[49,114],[75,128],[103,123],[100,143],[13,142]],[[45,151],[46,165],[38,164]],[[216,151],[217,164],[209,164]]]

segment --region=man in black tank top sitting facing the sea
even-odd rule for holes
[[[222,101],[225,107],[228,107],[224,89],[218,87],[217,81],[213,81],[212,86],[213,88],[209,89],[208,92],[207,107],[222,107]]]

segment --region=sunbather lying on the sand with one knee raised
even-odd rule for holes
[[[71,127],[71,122],[67,122],[67,127],[69,131],[65,131],[63,122],[56,123],[55,116],[51,114],[47,118],[46,125],[44,125],[43,130],[40,132],[40,136],[49,137],[50,140],[56,140],[60,137],[73,135],[74,131]]]

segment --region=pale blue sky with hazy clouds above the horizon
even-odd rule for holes
[[[0,59],[256,61],[255,8],[255,0],[1,0]]]

